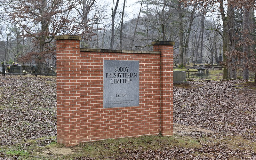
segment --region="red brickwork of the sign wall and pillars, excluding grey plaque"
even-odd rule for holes
[[[58,143],[172,135],[172,45],[153,46],[160,55],[80,52],[79,40],[56,43]],[[140,106],[103,108],[103,60],[140,61]]]

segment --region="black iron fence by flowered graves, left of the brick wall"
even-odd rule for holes
[[[4,75],[42,75],[56,76],[56,66],[36,64],[7,64],[2,63],[0,72]]]

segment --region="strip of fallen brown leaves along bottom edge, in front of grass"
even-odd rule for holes
[[[167,147],[158,150],[125,150],[125,156],[117,158],[126,159],[244,159],[246,153],[242,150],[231,150],[225,146],[203,146],[201,148]],[[200,155],[202,154],[202,155]],[[249,153],[249,156],[251,153]],[[247,156],[247,155],[246,155]],[[114,159],[114,157],[113,157]],[[116,159],[116,158],[115,158]],[[249,158],[248,158],[249,159]]]

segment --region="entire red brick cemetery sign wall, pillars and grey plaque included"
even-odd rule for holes
[[[56,36],[57,141],[172,135],[173,45],[154,51],[80,48],[80,36]]]

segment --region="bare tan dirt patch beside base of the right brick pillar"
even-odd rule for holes
[[[193,132],[204,132],[204,133],[214,133],[211,130],[206,130],[200,128],[196,125],[183,125],[178,123],[173,123],[173,133],[180,134],[180,135],[191,135]]]

